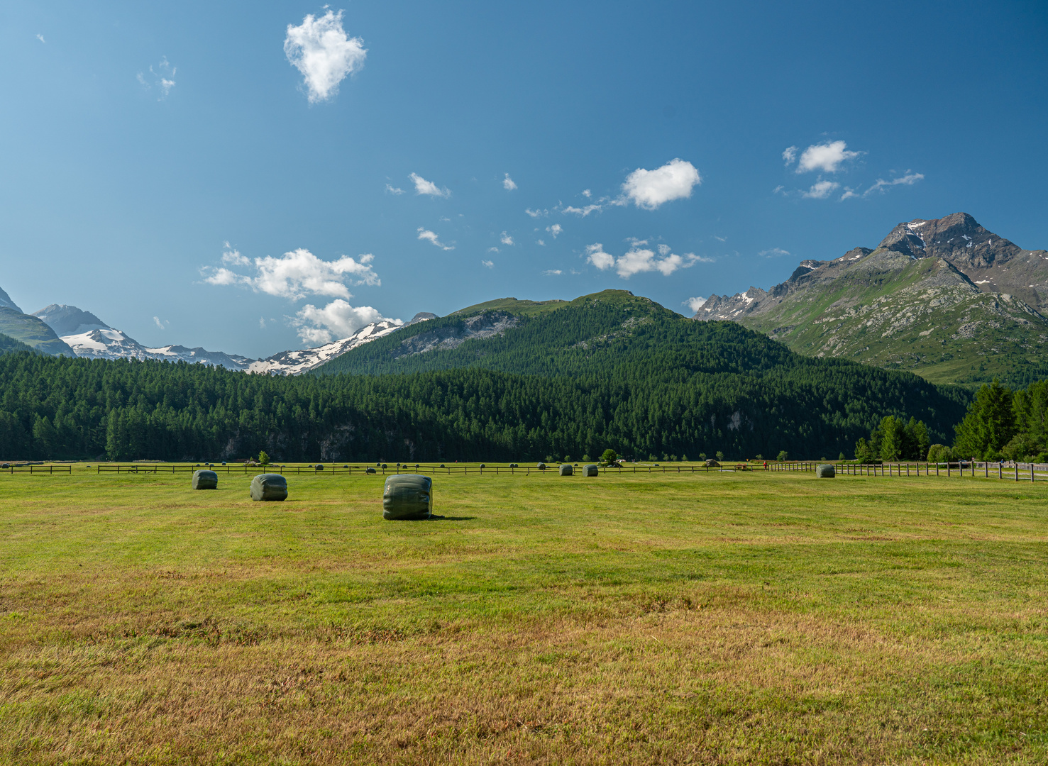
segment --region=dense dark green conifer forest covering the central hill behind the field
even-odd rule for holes
[[[282,461],[495,461],[608,447],[637,458],[835,458],[888,415],[916,417],[946,440],[970,398],[909,373],[807,358],[730,323],[576,308],[545,325],[522,318],[530,345],[507,331],[452,350],[457,366],[417,354],[410,364],[444,369],[393,374],[270,377],[8,352],[0,459],[220,460],[264,450]],[[346,356],[380,358],[397,335]]]

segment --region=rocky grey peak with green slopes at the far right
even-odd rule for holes
[[[711,296],[697,320],[729,320],[801,353],[909,369],[929,379],[1048,375],[1048,253],[955,213],[900,223],[870,249],[803,261],[763,290]]]

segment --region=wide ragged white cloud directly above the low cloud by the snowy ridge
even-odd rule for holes
[[[336,261],[323,261],[309,250],[300,247],[280,258],[266,256],[248,261],[237,250],[222,254],[223,263],[235,266],[254,265],[255,275],[248,276],[228,268],[204,268],[204,282],[212,285],[241,285],[256,292],[297,301],[307,294],[352,298],[346,280],[354,278],[356,285],[380,285],[381,281],[371,266],[374,256],[366,254],[357,261],[343,256]]]

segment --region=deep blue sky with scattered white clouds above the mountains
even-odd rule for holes
[[[691,313],[957,211],[1045,247],[1046,39],[1044,2],[5,0],[0,287],[264,356],[507,296]]]

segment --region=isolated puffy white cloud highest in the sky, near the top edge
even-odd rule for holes
[[[309,14],[299,26],[287,25],[284,54],[302,72],[310,104],[337,94],[339,83],[359,70],[368,57],[364,41],[343,29],[342,13],[328,9],[319,19]]]

